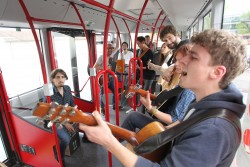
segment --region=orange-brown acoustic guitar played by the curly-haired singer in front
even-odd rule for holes
[[[55,122],[58,122],[60,124],[63,124],[65,122],[77,122],[89,126],[97,125],[95,118],[91,114],[84,113],[81,110],[78,110],[76,107],[65,107],[54,102],[52,102],[51,104],[39,102],[33,111],[33,115],[39,117],[37,122],[49,119],[49,126],[51,126],[52,123]],[[151,136],[163,132],[166,129],[159,122],[152,122],[148,124],[138,133],[123,129],[108,122],[107,125],[109,126],[111,132],[115,137],[126,140],[133,147],[139,146]],[[160,162],[166,155],[166,152],[170,149],[169,147],[171,147],[171,144],[167,144],[153,152],[146,153],[140,156],[143,156],[153,162]]]

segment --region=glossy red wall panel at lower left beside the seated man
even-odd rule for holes
[[[55,147],[56,141],[52,132],[34,126],[15,115],[12,115],[12,120],[20,156],[24,163],[32,166],[60,166],[54,156],[53,147]],[[21,144],[34,148],[35,154],[22,151]]]

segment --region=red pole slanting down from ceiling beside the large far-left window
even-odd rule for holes
[[[44,60],[43,60],[43,54],[42,54],[42,50],[41,50],[41,47],[40,47],[40,43],[39,43],[39,40],[38,40],[38,37],[37,37],[37,34],[36,34],[36,30],[35,30],[35,27],[34,27],[34,24],[33,24],[33,21],[32,21],[32,18],[30,17],[30,14],[23,2],[23,0],[19,0],[19,3],[23,9],[23,12],[26,16],[26,19],[29,23],[29,26],[31,28],[31,31],[32,31],[32,34],[34,36],[34,39],[35,39],[35,42],[36,42],[36,47],[37,47],[37,51],[38,51],[38,55],[39,55],[39,59],[40,59],[40,65],[41,65],[41,69],[42,69],[42,74],[43,74],[43,81],[44,83],[48,83],[48,80],[47,80],[47,74],[46,74],[46,69],[45,69],[45,63],[44,63]]]

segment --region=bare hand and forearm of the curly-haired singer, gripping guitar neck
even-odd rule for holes
[[[83,130],[88,139],[92,142],[104,146],[112,154],[121,161],[123,166],[133,167],[138,159],[138,156],[124,147],[111,133],[108,125],[102,120],[98,111],[94,111],[94,118],[97,126],[87,126],[79,124],[79,128]]]

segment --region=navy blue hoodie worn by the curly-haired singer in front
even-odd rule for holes
[[[230,84],[220,92],[193,102],[189,110],[195,109],[190,117],[209,109],[224,108],[242,117],[246,106],[240,91]],[[229,167],[240,144],[238,132],[231,122],[221,118],[209,118],[189,128],[178,136],[171,152],[158,164],[143,157],[138,158],[136,167]]]

